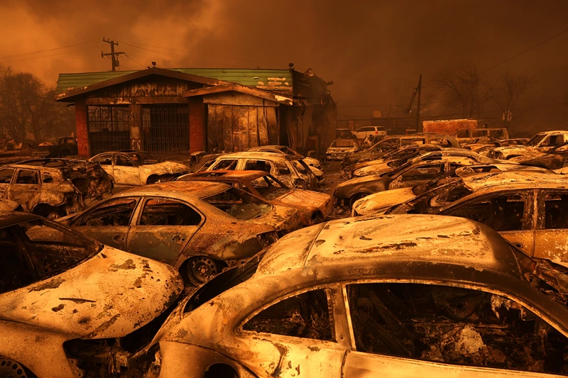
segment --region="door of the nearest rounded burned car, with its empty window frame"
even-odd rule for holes
[[[559,323],[555,321],[555,319],[550,318],[550,316],[545,313],[545,311],[540,311],[539,308],[535,308],[532,304],[528,304],[527,302],[520,299],[520,296],[511,294],[510,292],[504,292],[498,289],[494,289],[489,287],[489,285],[484,286],[479,282],[469,282],[467,284],[463,284],[461,282],[452,282],[449,280],[444,279],[355,279],[350,282],[342,282],[342,304],[344,306],[344,311],[346,313],[346,325],[348,327],[349,335],[349,349],[346,352],[344,364],[343,364],[343,372],[342,377],[351,377],[346,370],[349,368],[349,357],[353,354],[356,358],[359,357],[360,360],[366,360],[359,364],[359,366],[368,366],[368,365],[381,365],[381,367],[391,367],[394,370],[397,365],[400,365],[400,368],[406,368],[410,365],[413,365],[415,369],[432,369],[432,373],[436,372],[436,370],[441,374],[442,377],[453,377],[459,375],[461,377],[467,377],[468,375],[477,377],[477,378],[492,378],[492,377],[512,377],[512,378],[546,378],[546,377],[557,377],[557,375],[553,375],[550,373],[542,373],[542,372],[529,372],[524,370],[512,370],[512,369],[499,369],[495,367],[476,367],[471,365],[459,365],[453,364],[448,362],[435,362],[435,361],[427,361],[421,360],[420,358],[413,358],[413,357],[402,357],[402,356],[395,356],[395,355],[386,355],[386,354],[373,354],[370,352],[358,351],[356,349],[356,341],[354,335],[354,328],[353,323],[351,321],[351,310],[349,307],[349,294],[347,293],[347,286],[352,284],[381,284],[381,283],[396,283],[396,284],[427,284],[427,285],[439,285],[444,287],[456,287],[456,288],[466,288],[472,289],[477,291],[483,291],[488,294],[496,294],[499,296],[503,296],[510,301],[514,301],[517,304],[521,304],[528,308],[528,310],[535,313],[542,321],[548,324],[548,326],[555,328],[559,333],[564,335],[565,338],[568,338],[568,329],[563,330]],[[509,285],[504,285],[508,287]],[[512,290],[511,290],[512,291]],[[365,363],[366,362],[366,363]],[[392,367],[395,365],[394,367]],[[385,372],[384,370],[381,370]],[[403,378],[406,377],[404,372],[400,372],[400,374],[393,374],[393,372],[385,372],[386,377],[388,378]],[[461,373],[461,374],[459,374]],[[433,374],[426,374],[422,375],[423,377],[430,377]],[[368,378],[368,377],[376,377],[376,374],[356,374],[356,377]]]

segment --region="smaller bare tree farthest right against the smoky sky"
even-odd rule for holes
[[[512,131],[520,119],[515,106],[525,93],[530,78],[526,74],[502,74],[497,82],[486,82],[489,99],[501,110],[503,127]]]

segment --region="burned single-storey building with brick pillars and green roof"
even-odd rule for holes
[[[175,155],[257,145],[322,148],[336,105],[312,70],[162,69],[60,74],[55,101],[75,104],[80,155]]]

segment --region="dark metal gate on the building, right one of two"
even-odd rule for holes
[[[156,155],[187,154],[190,112],[187,105],[148,105],[142,108],[144,150]]]

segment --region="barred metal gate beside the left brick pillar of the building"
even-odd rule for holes
[[[91,155],[130,149],[130,109],[128,106],[87,107],[87,129]]]

